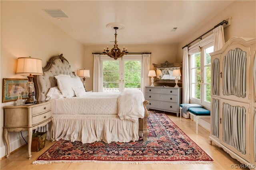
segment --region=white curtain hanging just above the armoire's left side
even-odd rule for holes
[[[225,43],[224,41],[224,29],[223,25],[220,25],[213,30],[213,43],[214,43],[214,51],[218,51],[221,49]]]

